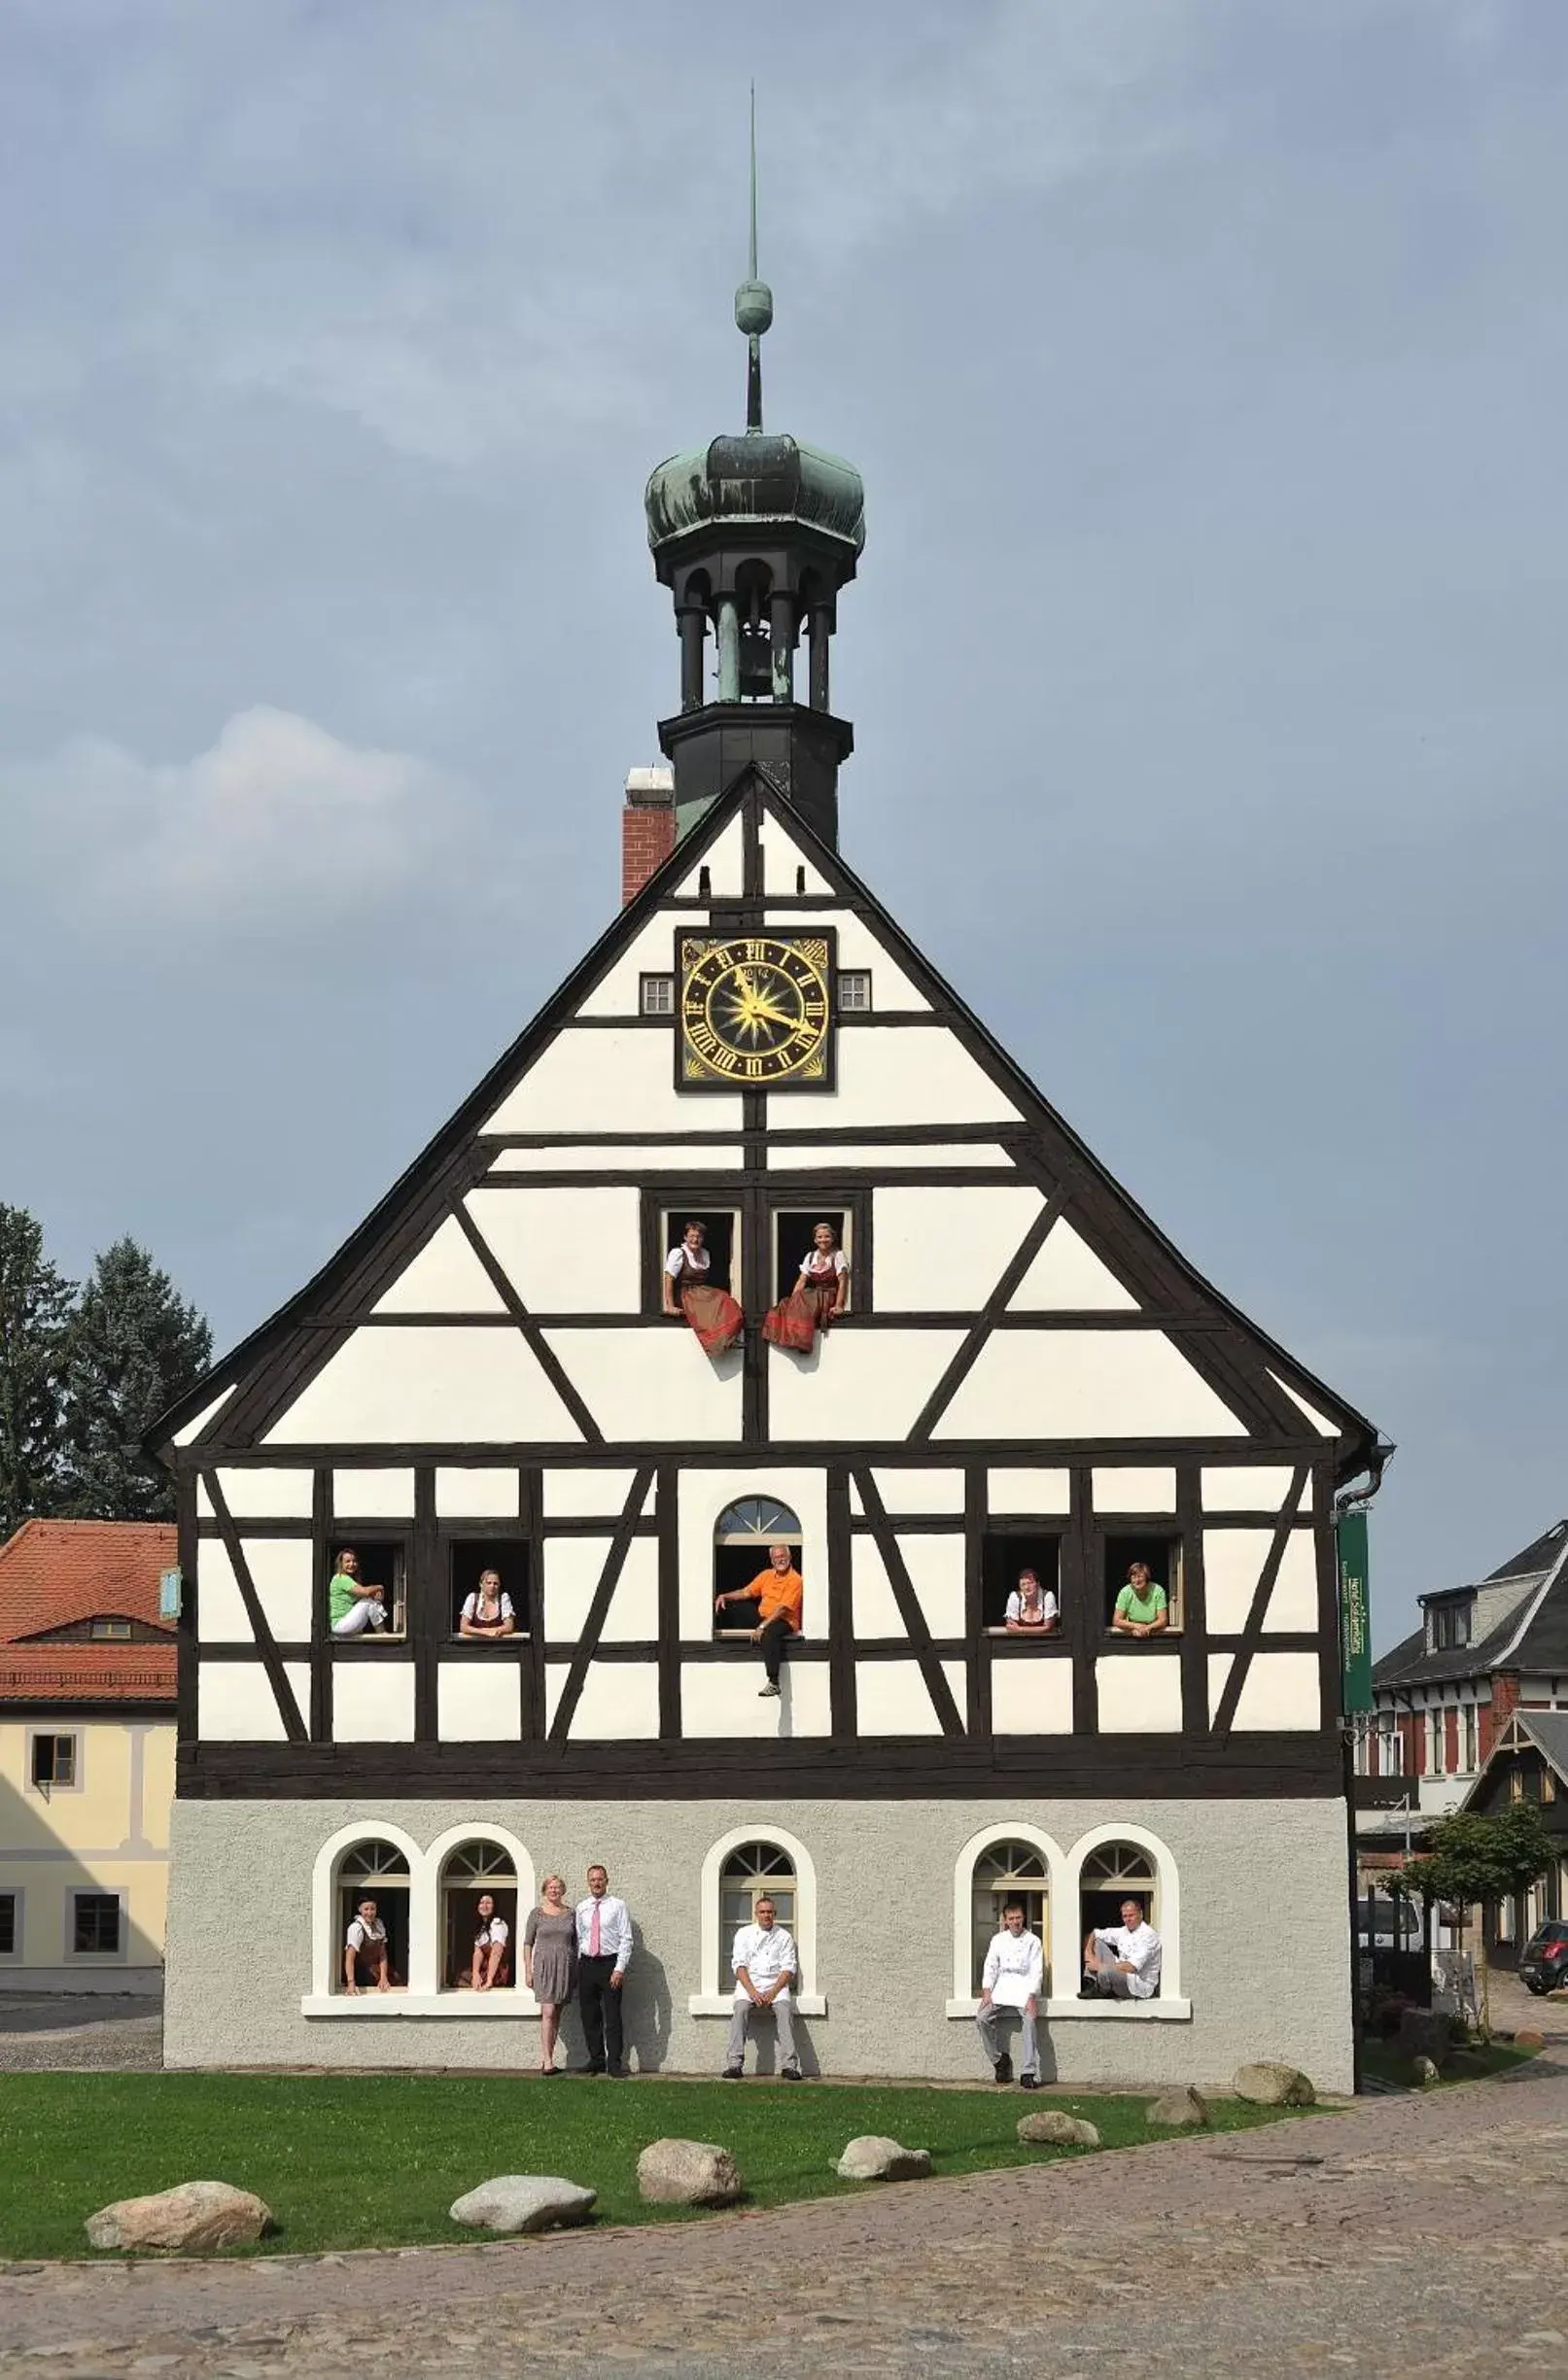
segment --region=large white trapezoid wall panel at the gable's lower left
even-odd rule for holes
[[[266,1445],[576,1442],[581,1430],[521,1333],[409,1323],[355,1330],[266,1433]]]

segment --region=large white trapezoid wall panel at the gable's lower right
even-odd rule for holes
[[[997,1330],[935,1438],[1004,1435],[1244,1438],[1247,1428],[1164,1330]]]

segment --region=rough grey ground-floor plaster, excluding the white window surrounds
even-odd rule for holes
[[[531,2018],[378,2013],[307,2018],[312,1866],[345,1823],[402,1825],[421,1847],[464,1821],[509,1828],[535,1871],[578,1890],[604,1859],[638,1928],[626,1987],[633,2061],[716,2071],[723,2021],[690,2016],[702,1973],[702,1861],[738,1825],[783,1825],[816,1868],[816,1971],[826,2016],[802,2021],[807,2068],[835,2075],[985,2075],[973,2023],[945,2013],[954,1985],[954,1861],[980,1830],[1021,1821],[1061,1852],[1097,1825],[1142,1825],[1180,1875],[1178,2023],[1056,2016],[1047,2075],[1071,2082],[1228,2082],[1242,2059],[1290,2059],[1323,2090],[1349,2090],[1349,1911],[1340,1802],[176,1802],[169,1897],[169,2066],[490,2066],[538,2063]],[[266,1911],[252,1928],[245,2016],[221,1975],[233,1964],[233,1878]],[[968,1904],[968,1892],[964,1892]],[[1056,1911],[1052,1992],[1078,1983],[1078,1911]],[[1282,1956],[1287,1937],[1287,1956]],[[576,2016],[566,2047],[581,2056]]]

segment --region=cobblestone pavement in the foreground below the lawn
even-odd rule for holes
[[[0,2266],[0,2375],[1447,2380],[1568,2347],[1568,2063],[704,2223],[252,2263]]]

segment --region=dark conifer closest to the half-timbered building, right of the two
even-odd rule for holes
[[[167,1521],[174,1480],[145,1454],[157,1416],[212,1359],[212,1330],[128,1235],[83,1283],[64,1349],[57,1511],[74,1521]]]

